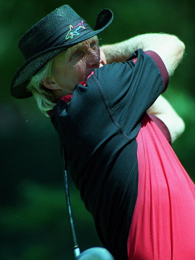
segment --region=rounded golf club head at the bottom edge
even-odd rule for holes
[[[76,260],[114,260],[114,258],[105,248],[92,247],[77,256]]]

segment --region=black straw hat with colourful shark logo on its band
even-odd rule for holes
[[[11,95],[15,98],[31,97],[32,93],[26,86],[33,75],[60,52],[103,31],[112,20],[113,13],[109,9],[101,10],[93,31],[69,5],[49,13],[19,41],[19,49],[26,61],[12,79]]]

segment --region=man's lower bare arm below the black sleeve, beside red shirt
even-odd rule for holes
[[[155,115],[164,122],[170,132],[172,142],[174,142],[185,129],[184,121],[163,96],[157,98],[155,103],[147,110],[147,113]]]

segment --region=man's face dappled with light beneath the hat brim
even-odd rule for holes
[[[72,94],[95,68],[103,66],[97,36],[78,43],[53,59],[54,81],[64,94]]]

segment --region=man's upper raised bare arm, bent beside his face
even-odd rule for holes
[[[101,46],[109,64],[125,61],[135,50],[140,48],[143,51],[156,52],[163,60],[169,76],[172,76],[182,60],[185,46],[175,35],[163,33],[141,34],[120,43]]]

